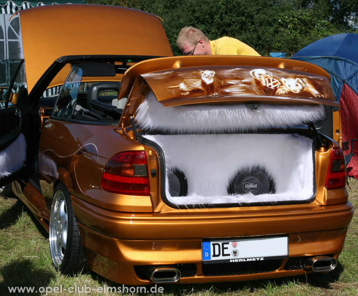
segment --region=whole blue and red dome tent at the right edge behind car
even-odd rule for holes
[[[358,34],[337,34],[320,39],[298,51],[292,59],[318,65],[328,71],[342,119],[342,140],[358,139]],[[343,148],[346,149],[346,148]],[[349,150],[349,149],[347,149]],[[347,166],[349,176],[358,178],[358,145]]]

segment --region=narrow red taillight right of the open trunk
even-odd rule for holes
[[[344,154],[340,148],[332,148],[329,159],[329,169],[326,177],[327,189],[339,189],[345,187],[347,171]]]

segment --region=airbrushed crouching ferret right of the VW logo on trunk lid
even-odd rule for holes
[[[285,94],[288,92],[300,93],[306,92],[315,97],[323,97],[320,85],[313,79],[299,75],[289,75],[287,78],[281,79],[282,85],[277,89],[277,94]]]

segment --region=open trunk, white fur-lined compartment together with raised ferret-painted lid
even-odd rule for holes
[[[297,61],[198,58],[196,65],[175,57],[132,67],[139,65],[124,118],[132,116],[135,130],[144,130],[137,139],[158,152],[164,201],[173,207],[311,202],[315,155],[332,144],[313,126],[325,118],[324,105],[331,112],[337,106],[329,75],[319,67],[293,70],[309,67]],[[125,89],[124,80],[122,95]],[[310,128],[297,127],[304,124]]]

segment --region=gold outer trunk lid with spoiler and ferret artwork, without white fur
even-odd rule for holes
[[[156,59],[156,64],[153,61],[132,66],[123,81],[128,82],[131,74],[133,78],[139,75],[165,107],[250,101],[339,105],[328,73],[309,63],[247,56],[173,57]],[[124,83],[120,95],[125,88]]]

